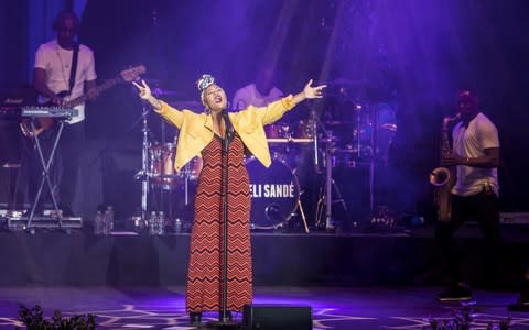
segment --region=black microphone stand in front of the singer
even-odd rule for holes
[[[231,122],[229,121],[228,110],[224,109],[223,112],[224,123],[225,123],[225,134],[223,141],[223,187],[224,187],[224,198],[223,198],[223,264],[222,264],[222,284],[220,284],[220,316],[218,321],[208,322],[207,328],[209,329],[238,329],[238,326],[233,320],[228,318],[228,153],[229,153],[229,143],[234,138],[234,129]]]

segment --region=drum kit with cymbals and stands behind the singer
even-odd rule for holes
[[[168,91],[164,91],[165,94]],[[173,105],[173,103],[172,103]],[[175,108],[187,108],[199,111],[197,102],[174,102]],[[142,111],[142,168],[137,179],[142,182],[141,217],[147,219],[152,211],[148,205],[148,196],[152,193],[183,194],[185,206],[191,205],[191,190],[196,186],[202,158],[195,157],[181,172],[174,169],[177,135],[172,142],[165,142],[162,136],[160,143],[152,143],[148,128],[145,106]],[[333,194],[343,201],[333,180],[333,170],[371,166],[375,162],[387,162],[387,152],[397,131],[396,112],[386,103],[356,105],[348,119],[325,118],[320,120],[316,111],[311,111],[309,119],[293,123],[276,122],[264,127],[272,164],[266,168],[253,157],[248,157],[246,167],[250,180],[251,195],[251,228],[255,230],[277,230],[289,224],[292,217],[299,215],[303,230],[309,232],[309,226],[300,201],[302,187],[296,174],[300,166],[295,162],[301,148],[311,152],[314,167],[324,173],[324,187],[321,189],[319,207],[325,206],[324,211],[316,211],[315,226],[327,230],[334,229],[332,219]],[[162,122],[162,135],[165,130]],[[303,164],[301,164],[303,166]],[[324,170],[320,170],[325,168]],[[319,174],[320,175],[320,174]],[[370,189],[373,191],[373,189]],[[179,195],[179,198],[182,198]],[[163,200],[163,198],[162,198]],[[174,217],[169,200],[168,217]],[[373,209],[373,198],[371,205]],[[159,210],[164,206],[158,205]],[[346,206],[344,205],[344,208]],[[192,215],[192,212],[191,212]],[[182,219],[180,215],[177,217]],[[192,219],[185,219],[191,223]]]

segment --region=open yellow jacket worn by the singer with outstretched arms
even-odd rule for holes
[[[249,106],[239,112],[229,113],[234,130],[239,134],[245,146],[267,167],[272,160],[263,125],[279,120],[292,109],[294,107],[292,98],[292,95],[289,95],[267,107]],[[162,108],[158,112],[180,129],[174,160],[174,168],[180,170],[193,157],[201,156],[202,150],[212,141],[214,136],[212,117],[185,109],[176,110],[165,102],[162,102]]]

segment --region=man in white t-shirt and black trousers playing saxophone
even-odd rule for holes
[[[435,231],[451,280],[450,286],[438,294],[440,301],[472,298],[472,290],[462,272],[461,254],[452,243],[455,231],[465,221],[475,220],[479,223],[492,253],[504,251],[498,210],[498,131],[479,111],[477,98],[472,91],[462,90],[457,94],[456,110],[460,120],[452,130],[452,151],[441,160],[443,166],[456,167],[456,178],[451,190],[450,221],[440,221]],[[490,257],[499,261],[498,255]]]

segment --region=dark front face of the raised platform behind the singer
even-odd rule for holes
[[[188,234],[94,237],[73,232],[0,233],[0,285],[185,285]],[[505,258],[494,272],[483,239],[457,239],[466,250],[474,285],[510,288],[519,263]],[[528,255],[529,242],[512,242]],[[431,238],[268,235],[252,237],[256,285],[375,286],[436,285],[444,277]]]

